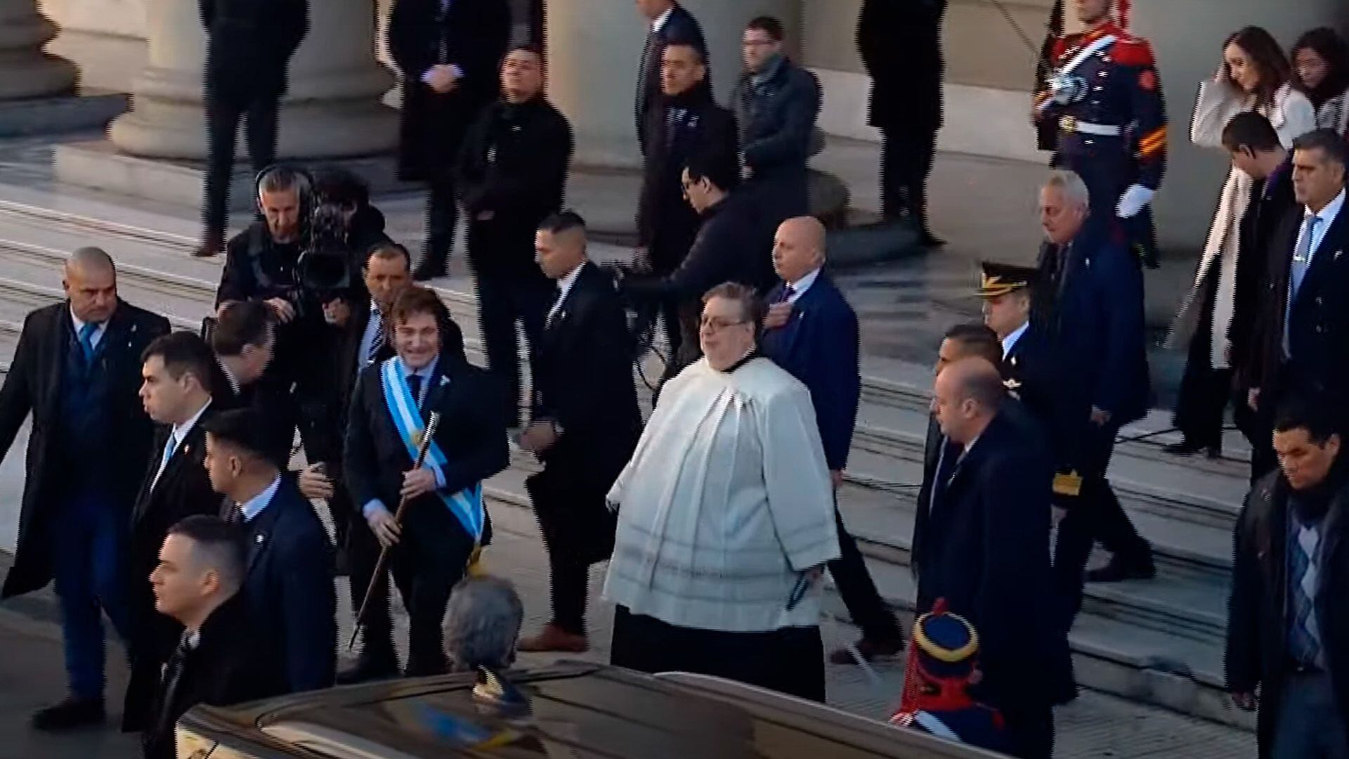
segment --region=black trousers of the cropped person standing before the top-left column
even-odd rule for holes
[[[252,100],[219,97],[206,85],[206,199],[202,211],[206,242],[224,244],[229,215],[229,178],[235,169],[239,122],[246,119],[248,159],[254,173],[277,161],[277,112],[281,96]]]

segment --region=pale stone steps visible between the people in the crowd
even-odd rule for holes
[[[58,265],[84,244],[98,244],[119,262],[124,298],[165,313],[175,327],[196,330],[210,313],[221,261],[188,255],[194,226],[148,215],[140,216],[144,227],[113,223],[109,219],[135,217],[113,216],[113,208],[94,219],[0,201],[0,361],[5,367],[23,315],[62,297]],[[436,289],[464,327],[469,351],[480,358],[471,281],[442,280]],[[931,371],[873,357],[863,359],[862,369],[862,408],[839,504],[882,596],[904,612],[916,596],[908,570],[909,536]],[[1167,427],[1166,415],[1153,412],[1122,435]],[[1222,689],[1230,536],[1245,493],[1245,465],[1234,458],[1170,458],[1160,444],[1171,440],[1163,434],[1116,450],[1112,481],[1135,524],[1153,543],[1159,575],[1149,582],[1087,586],[1071,635],[1078,681],[1253,729],[1251,716],[1232,709]],[[1240,455],[1236,440],[1229,443],[1229,451]],[[490,493],[503,504],[527,508],[523,478],[536,469],[530,456],[517,452],[513,467],[488,483]],[[828,609],[846,617],[836,597]]]

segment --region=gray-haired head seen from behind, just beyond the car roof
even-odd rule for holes
[[[498,577],[471,577],[455,586],[445,606],[445,656],[456,671],[506,669],[515,660],[523,620],[514,585]]]

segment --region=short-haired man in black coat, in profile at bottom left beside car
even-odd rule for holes
[[[198,704],[229,706],[285,691],[241,593],[244,550],[239,528],[214,516],[190,516],[165,538],[150,585],[155,609],[182,625],[182,635],[142,735],[146,759],[177,756],[178,718]]]

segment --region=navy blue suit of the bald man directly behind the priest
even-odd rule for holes
[[[769,303],[781,303],[785,285],[769,292]],[[853,446],[862,371],[857,313],[838,286],[823,273],[792,304],[792,317],[777,330],[768,330],[759,350],[811,392],[815,423],[831,470],[847,469]],[[840,556],[830,562],[830,574],[843,596],[849,613],[870,642],[898,642],[902,633],[881,601],[866,570],[857,542],[843,527],[838,508],[834,517]]]

